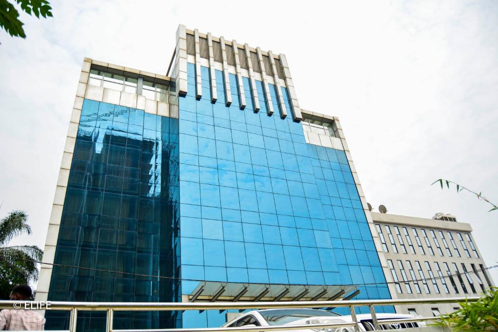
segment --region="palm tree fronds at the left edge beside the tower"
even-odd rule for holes
[[[37,261],[43,251],[36,245],[7,246],[12,238],[22,233],[31,234],[24,211],[12,211],[0,221],[0,300],[8,299],[17,284],[38,279]]]

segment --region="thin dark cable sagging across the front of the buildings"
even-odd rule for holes
[[[39,264],[44,264],[44,265],[52,265],[52,266],[61,266],[61,267],[69,267],[69,268],[74,268],[74,269],[83,269],[83,270],[91,270],[91,271],[97,271],[97,272],[109,272],[109,273],[118,273],[118,274],[126,274],[126,275],[132,275],[132,276],[139,276],[139,277],[150,277],[150,278],[158,278],[158,279],[170,279],[170,280],[177,280],[177,281],[198,281],[198,282],[204,282],[208,280],[201,280],[201,279],[186,279],[186,278],[177,278],[177,277],[166,277],[166,276],[154,276],[154,275],[149,275],[149,274],[140,274],[140,273],[131,273],[131,272],[123,272],[123,271],[113,271],[113,270],[104,270],[104,269],[96,269],[92,267],[83,267],[83,266],[74,266],[74,265],[67,265],[67,264],[57,264],[57,263],[43,263],[41,261],[37,260],[31,260],[31,259],[23,259],[23,258],[13,258],[13,257],[8,257],[8,256],[3,256],[0,255],[1,258],[6,258],[6,259],[14,259],[14,260],[20,260],[20,261],[26,261],[26,262],[32,262],[32,263],[39,263]],[[407,280],[407,281],[391,281],[391,282],[377,282],[377,283],[364,283],[364,284],[343,284],[341,286],[378,286],[378,285],[389,285],[389,284],[400,284],[400,283],[407,283],[407,282],[422,282],[422,281],[427,281],[427,280],[436,280],[436,279],[444,279],[444,278],[450,278],[450,277],[456,277],[456,276],[461,276],[462,274],[470,274],[474,273],[477,275],[477,272],[482,272],[484,270],[490,270],[497,268],[497,265],[493,266],[488,266],[482,269],[477,269],[473,271],[468,271],[464,273],[455,273],[455,274],[448,274],[446,276],[438,276],[434,278],[424,278],[424,279],[416,279],[416,280]],[[478,276],[479,277],[479,276]]]

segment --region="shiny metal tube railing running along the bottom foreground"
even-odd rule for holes
[[[375,314],[375,306],[395,306],[409,304],[439,304],[474,302],[479,297],[471,298],[443,298],[443,299],[395,299],[395,300],[354,300],[354,301],[287,301],[287,302],[172,302],[172,303],[143,303],[143,302],[50,302],[51,310],[69,311],[69,330],[76,332],[78,311],[105,311],[106,332],[261,332],[261,331],[292,331],[309,329],[330,329],[353,327],[355,331],[361,331],[355,307],[369,307],[372,315],[372,323],[375,330],[380,330],[379,321]],[[14,304],[19,301],[0,301],[0,309],[13,309]],[[36,307],[37,302],[26,302],[28,306]],[[228,310],[228,309],[288,309],[288,308],[332,308],[349,307],[352,322],[306,324],[306,325],[284,325],[284,326],[249,326],[234,328],[198,328],[198,329],[134,329],[114,330],[113,318],[115,311],[184,311],[184,310]],[[337,319],[341,317],[338,316]],[[436,317],[421,317],[413,319],[386,319],[381,324],[412,323],[423,321],[435,321]]]

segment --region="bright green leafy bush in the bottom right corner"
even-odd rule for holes
[[[439,316],[435,326],[453,331],[498,331],[498,288],[492,287],[477,302],[459,303],[461,308],[452,314]]]

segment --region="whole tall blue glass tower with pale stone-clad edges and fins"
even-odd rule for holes
[[[166,76],[85,58],[37,300],[386,299],[372,226],[339,119],[299,107],[285,56],[180,25]],[[81,331],[105,324],[78,316]],[[64,313],[46,317],[66,328]]]

